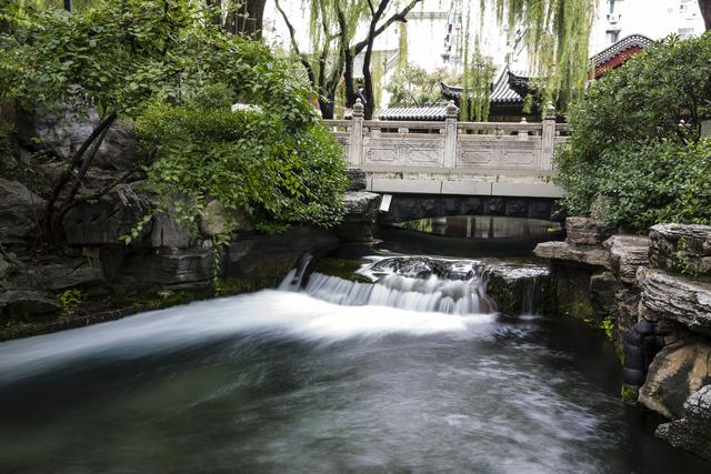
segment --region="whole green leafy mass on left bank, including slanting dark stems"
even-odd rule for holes
[[[37,11],[2,41],[6,94],[26,108],[62,103],[100,115],[79,150],[57,158],[66,165],[48,196],[48,231],[53,215],[117,184],[87,193],[83,177],[119,119],[139,125],[146,154],[136,171],[159,194],[157,211],[180,201],[190,221],[214,200],[228,215],[273,224],[264,230],[338,221],[342,152],[318,124],[309,84],[262,43],[206,21],[192,1]],[[252,110],[233,113],[234,102]]]

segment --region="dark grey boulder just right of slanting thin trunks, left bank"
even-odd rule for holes
[[[140,184],[120,184],[96,202],[71,209],[62,220],[70,245],[122,245],[121,236],[130,234],[149,211],[146,196],[137,192]],[[143,225],[138,240],[151,231]],[[134,239],[136,240],[136,239]]]

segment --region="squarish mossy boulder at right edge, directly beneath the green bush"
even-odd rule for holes
[[[711,225],[658,224],[649,233],[653,268],[688,275],[711,275]]]

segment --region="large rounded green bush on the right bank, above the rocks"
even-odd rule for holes
[[[670,37],[608,72],[571,108],[555,157],[569,213],[645,231],[711,222],[711,36]]]

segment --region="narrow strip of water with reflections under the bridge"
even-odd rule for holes
[[[493,215],[454,215],[418,219],[393,224],[395,228],[457,239],[509,239],[544,236],[561,231],[557,222]]]

